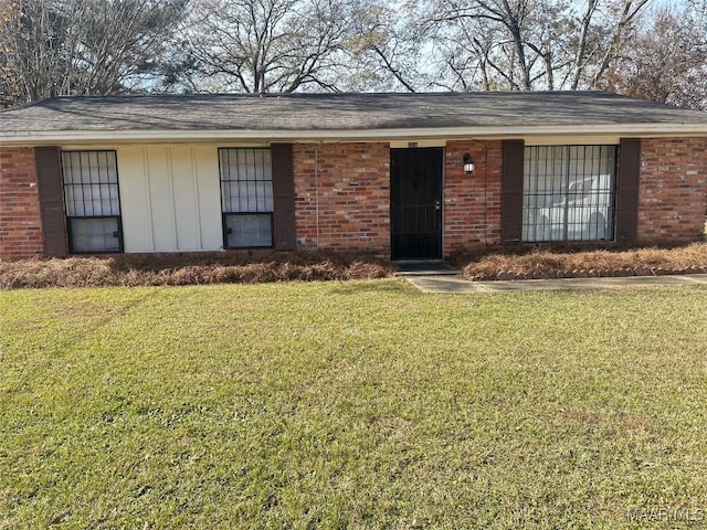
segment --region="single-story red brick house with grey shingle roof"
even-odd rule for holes
[[[687,241],[707,114],[598,92],[56,97],[0,112],[0,171],[3,259]]]

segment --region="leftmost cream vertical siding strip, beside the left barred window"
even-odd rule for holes
[[[151,204],[143,147],[119,147],[118,186],[125,252],[151,252]]]

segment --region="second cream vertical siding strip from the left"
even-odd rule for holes
[[[177,227],[175,223],[175,195],[167,146],[147,148],[147,171],[150,202],[152,206],[152,236],[155,251],[177,250]]]

